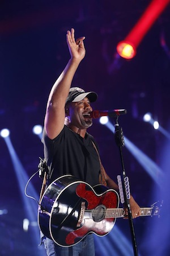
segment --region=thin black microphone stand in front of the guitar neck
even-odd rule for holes
[[[123,134],[123,131],[122,131],[122,127],[120,127],[120,125],[118,124],[118,115],[114,118],[114,127],[115,127],[114,138],[115,138],[116,144],[119,148],[120,156],[121,156],[121,166],[122,166],[121,177],[122,177],[122,189],[123,189],[124,200],[125,200],[125,208],[128,209],[128,220],[129,220],[129,225],[130,225],[131,240],[132,240],[132,243],[133,243],[134,255],[138,256],[138,249],[137,249],[137,242],[136,242],[136,239],[135,239],[133,218],[132,218],[132,215],[131,215],[130,203],[129,203],[129,199],[127,198],[127,195],[126,195],[126,188],[125,188],[126,173],[125,173],[124,158],[123,158],[123,154],[122,154],[122,147],[125,146],[125,142],[124,142],[124,134]]]

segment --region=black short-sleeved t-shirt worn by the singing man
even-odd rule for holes
[[[71,174],[91,186],[99,184],[100,163],[92,141],[94,138],[90,134],[82,138],[67,126],[55,139],[49,139],[44,130],[42,142],[49,167],[48,183]]]

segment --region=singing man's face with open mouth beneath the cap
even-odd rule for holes
[[[84,98],[82,101],[71,102],[69,105],[69,115],[71,125],[78,127],[79,129],[87,129],[92,125],[92,118],[90,112],[92,107],[88,98]]]

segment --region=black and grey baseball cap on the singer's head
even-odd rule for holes
[[[90,102],[94,102],[97,100],[97,93],[95,92],[85,92],[82,88],[79,87],[71,87],[69,91],[69,95],[66,99],[67,102],[78,102],[83,100],[83,98],[87,97]]]

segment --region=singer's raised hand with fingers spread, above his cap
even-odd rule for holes
[[[71,58],[82,60],[86,54],[86,49],[84,48],[83,40],[85,36],[75,40],[74,28],[71,28],[71,31],[67,31],[67,44],[69,47]]]

